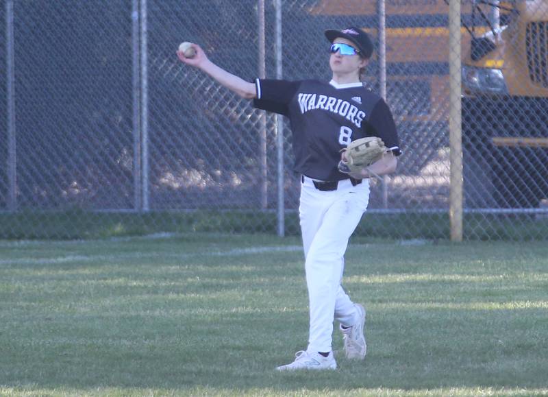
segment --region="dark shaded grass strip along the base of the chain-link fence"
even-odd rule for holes
[[[285,234],[300,234],[295,211],[284,219]],[[277,234],[273,210],[192,210],[146,213],[101,213],[82,209],[21,210],[0,213],[0,239],[100,239],[158,232],[223,232]],[[464,239],[482,241],[545,240],[548,219],[534,215],[464,215]],[[441,239],[450,237],[444,213],[366,213],[357,236],[386,239]]]

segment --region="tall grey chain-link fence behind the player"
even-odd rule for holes
[[[548,1],[463,1],[461,49],[443,0],[2,5],[0,237],[298,233],[288,123],[175,50],[198,43],[249,81],[275,77],[278,62],[285,79],[329,80],[323,31],[349,26],[375,38],[365,84],[386,97],[403,148],[358,232],[449,237],[449,53],[460,51],[464,238],[547,235]]]

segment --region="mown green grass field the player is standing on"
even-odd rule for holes
[[[308,338],[297,237],[0,241],[0,395],[548,394],[545,242],[356,238],[345,287],[366,361],[280,374]]]

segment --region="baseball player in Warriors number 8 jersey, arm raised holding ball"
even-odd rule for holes
[[[369,178],[393,173],[400,154],[393,116],[385,101],[364,88],[360,73],[373,53],[373,43],[361,29],[329,29],[332,80],[242,80],[221,69],[198,45],[193,58],[177,56],[198,67],[256,108],[290,119],[295,171],[301,174],[299,218],[305,254],[310,328],[308,347],[295,361],[277,370],[333,370],[334,320],[343,333],[345,354],[362,360],[366,354],[366,313],[341,287],[348,241],[369,203]],[[388,152],[380,160],[347,173],[341,149],[351,141],[378,136]],[[341,171],[342,170],[342,171]],[[344,171],[344,172],[343,172]]]

